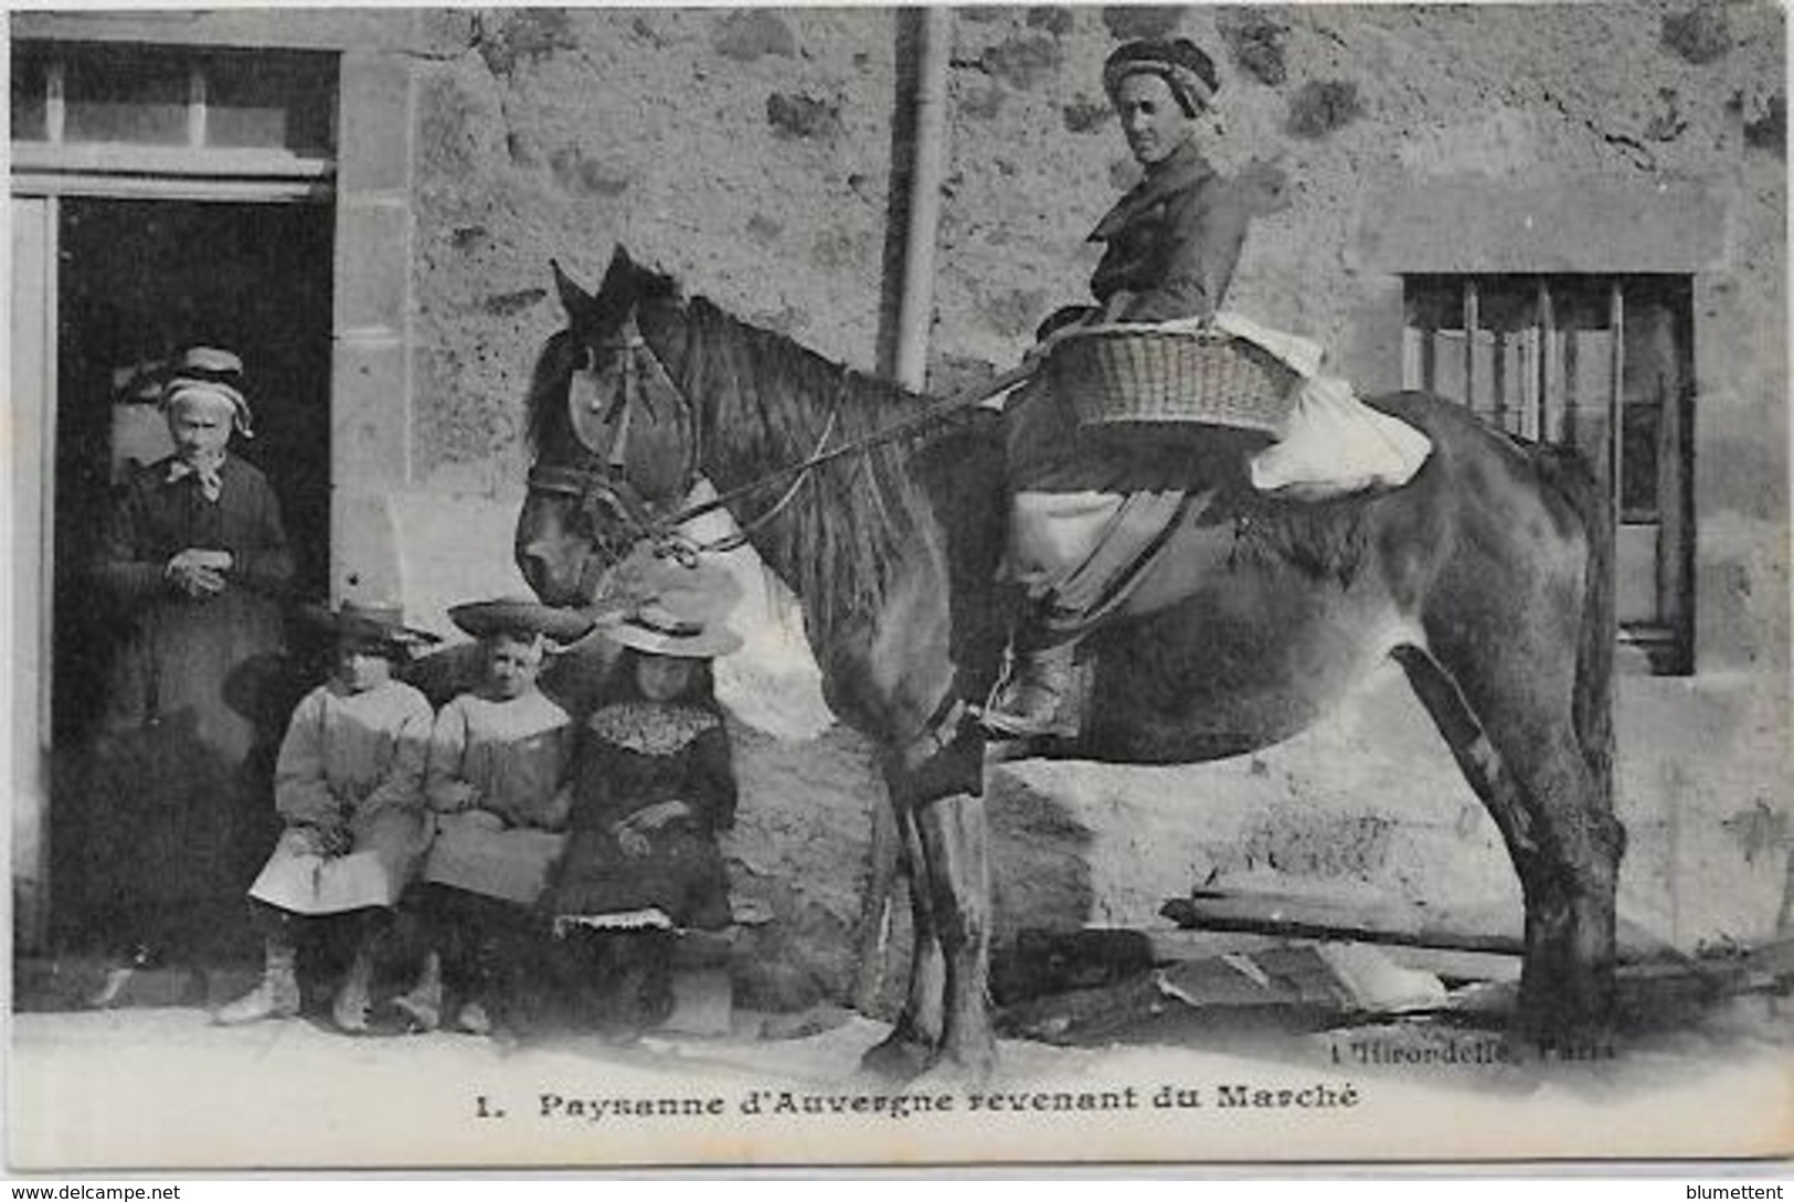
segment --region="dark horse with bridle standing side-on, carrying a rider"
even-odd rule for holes
[[[911,874],[904,1005],[865,1066],[996,1064],[985,736],[999,658],[1001,416],[843,368],[617,248],[597,292],[553,266],[567,327],[536,357],[515,558],[590,605],[619,562],[727,508],[802,603],[834,714],[879,750]],[[1573,456],[1423,393],[1367,404],[1433,454],[1331,502],[1211,490],[1173,585],[1089,642],[1091,730],[1010,753],[1200,762],[1288,739],[1394,658],[1493,814],[1525,901],[1516,1032],[1589,1039],[1615,1003],[1613,520]],[[996,425],[996,429],[994,429]],[[893,434],[893,429],[897,431]],[[689,504],[701,483],[721,490]],[[1225,495],[1231,493],[1231,501]]]

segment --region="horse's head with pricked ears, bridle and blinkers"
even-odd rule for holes
[[[696,414],[675,382],[675,282],[621,246],[596,294],[551,264],[567,328],[529,391],[535,463],[517,518],[524,579],[551,605],[592,599],[603,574],[696,483]],[[655,332],[649,344],[644,330]]]

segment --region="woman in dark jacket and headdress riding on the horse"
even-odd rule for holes
[[[1247,192],[1197,147],[1220,91],[1209,57],[1186,38],[1130,41],[1103,65],[1103,88],[1143,176],[1091,233],[1103,244],[1091,276],[1096,305],[1058,310],[1042,339],[1075,323],[1209,319],[1245,244]],[[983,721],[1001,737],[1028,737],[1055,732],[1078,639],[1173,520],[1182,493],[1146,479],[1150,456],[1139,447],[1080,434],[1041,377],[1010,400],[1006,425],[1008,569],[1028,605]]]

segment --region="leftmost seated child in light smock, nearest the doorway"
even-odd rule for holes
[[[249,888],[266,933],[262,983],[217,1021],[296,1015],[296,920],[353,913],[355,960],[332,1017],[355,1033],[368,1028],[375,940],[431,834],[423,759],[434,714],[422,692],[393,680],[393,664],[436,637],[405,628],[396,606],[344,601],[335,612],[307,606],[307,617],[335,633],[335,671],[292,710],[274,764],[285,832]]]

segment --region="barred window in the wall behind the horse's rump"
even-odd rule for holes
[[[1613,490],[1620,637],[1694,671],[1694,303],[1677,274],[1405,276],[1403,386],[1575,447]]]

